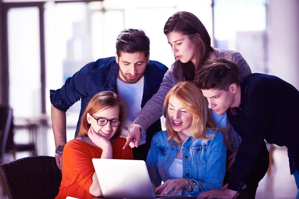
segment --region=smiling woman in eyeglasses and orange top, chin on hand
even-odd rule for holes
[[[124,117],[125,105],[118,94],[101,92],[90,100],[77,137],[64,147],[62,181],[55,199],[102,196],[93,158],[133,160],[132,148],[122,149],[126,138],[119,137]]]

